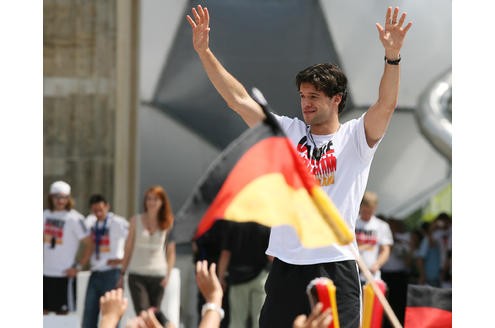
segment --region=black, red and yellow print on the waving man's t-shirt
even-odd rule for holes
[[[304,159],[309,172],[316,177],[321,186],[335,183],[337,157],[334,155],[332,140],[317,148],[308,142],[307,136],[304,136],[297,143],[297,152]]]

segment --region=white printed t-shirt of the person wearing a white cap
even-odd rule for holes
[[[76,210],[43,211],[43,275],[65,277],[76,259],[81,239],[88,236],[84,216]]]

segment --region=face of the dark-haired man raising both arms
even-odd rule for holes
[[[311,83],[303,82],[299,87],[301,109],[306,124],[317,126],[331,120],[333,111],[338,111],[338,104],[332,101],[323,91],[319,91]]]

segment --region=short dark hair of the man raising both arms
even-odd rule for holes
[[[339,66],[328,63],[309,66],[296,75],[298,89],[301,83],[311,83],[316,90],[322,91],[328,97],[341,94],[339,114],[344,110],[347,101],[347,77]]]

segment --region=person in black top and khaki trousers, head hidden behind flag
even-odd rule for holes
[[[270,228],[255,222],[229,222],[227,227],[227,241],[220,253],[218,273],[224,288],[230,286],[229,327],[259,327],[266,296],[264,286],[272,261],[272,257],[265,254]]]

